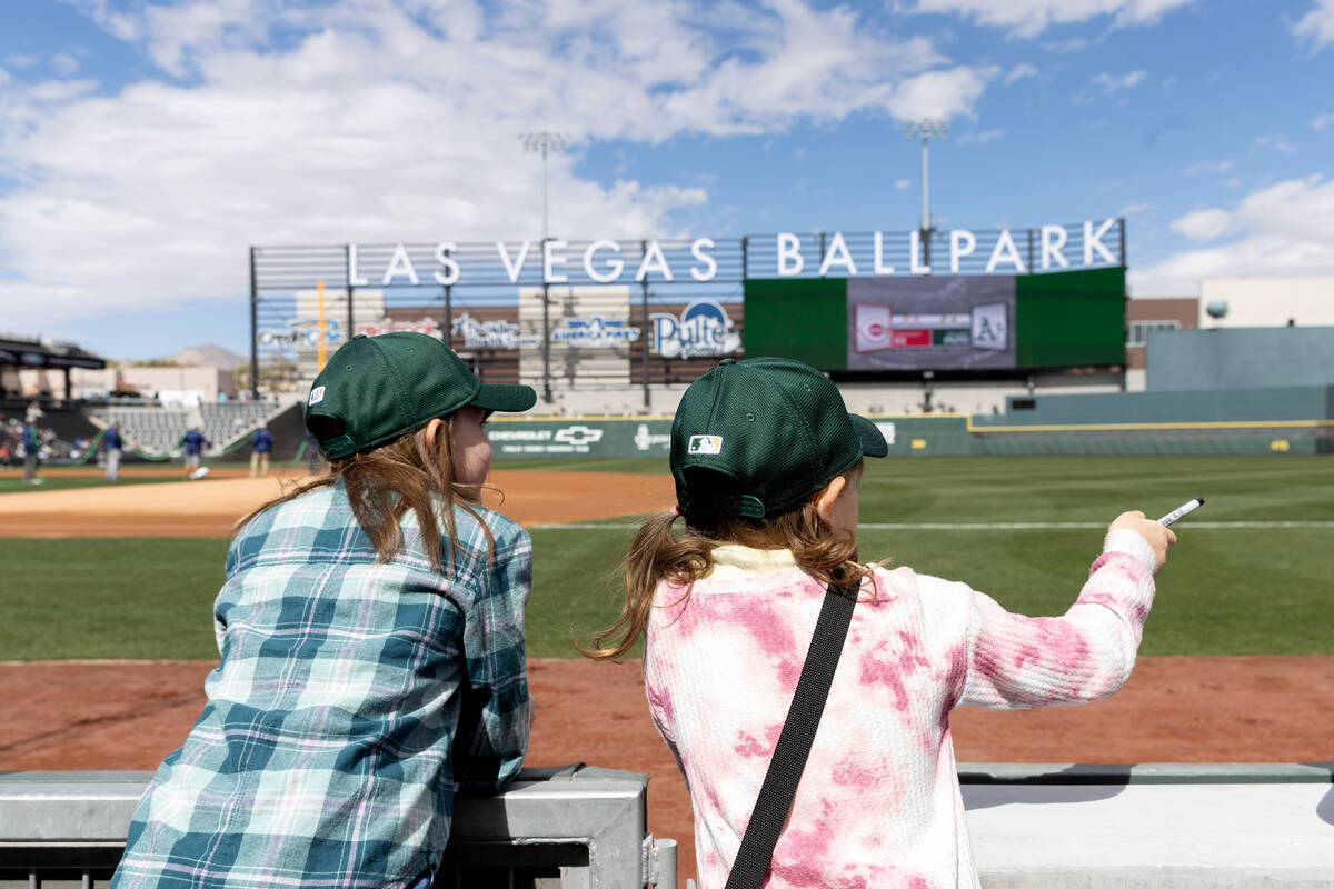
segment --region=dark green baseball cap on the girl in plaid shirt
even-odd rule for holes
[[[305,428],[331,460],[402,439],[459,408],[527,411],[532,387],[482,383],[454,349],[434,336],[398,332],[355,336],[315,377],[305,400]],[[342,435],[321,439],[312,420],[336,420]]]

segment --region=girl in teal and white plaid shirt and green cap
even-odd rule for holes
[[[420,333],[334,355],[305,408],[328,470],[241,520],[208,704],[112,889],[430,886],[455,793],[527,753],[532,548],[480,493],[484,421],[535,400]]]

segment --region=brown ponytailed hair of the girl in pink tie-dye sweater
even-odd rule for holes
[[[862,465],[847,473],[847,482],[860,481]],[[686,516],[686,533],[674,530],[675,510],[656,512],[640,525],[624,558],[626,604],[620,617],[592,637],[592,645],[575,645],[598,660],[614,660],[634,648],[652,613],[658,584],[667,580],[686,586],[690,596],[696,580],[714,568],[712,550],[720,544],[752,549],[790,549],[796,565],[822,584],[860,582],[871,569],[858,562],[856,532],[834,528],[810,500],[771,518],[740,518],[723,513]]]

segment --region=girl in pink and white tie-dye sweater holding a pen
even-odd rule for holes
[[[694,804],[700,889],[727,882],[831,582],[858,601],[771,889],[979,885],[950,710],[1095,701],[1130,676],[1171,530],[1121,514],[1062,617],[1013,614],[967,584],[859,561],[862,460],[887,452],[798,361],[724,360],[682,399],[678,505],[635,536],[624,609],[590,653],[618,657],[644,636],[650,710]]]

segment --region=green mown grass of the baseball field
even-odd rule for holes
[[[1030,614],[1059,614],[1074,600],[1101,526],[1117,513],[1158,516],[1203,496],[1207,505],[1177,525],[1181,544],[1158,577],[1142,652],[1334,653],[1334,526],[1198,526],[1334,521],[1329,457],[900,458],[870,461],[860,496],[864,558],[966,581]],[[922,522],[1099,526],[866,526]],[[615,617],[615,562],[630,524],[532,530],[532,656],[575,656],[571,640]],[[225,546],[217,538],[0,538],[0,658],[216,657],[211,606]]]

